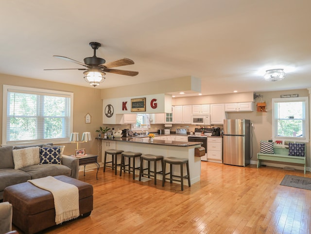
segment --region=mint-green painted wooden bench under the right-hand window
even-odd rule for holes
[[[298,163],[303,164],[305,167],[306,174],[306,156],[290,156],[288,155],[288,149],[274,148],[275,153],[257,153],[257,168],[261,166],[261,160],[285,162],[285,163]],[[306,150],[305,150],[306,152]]]

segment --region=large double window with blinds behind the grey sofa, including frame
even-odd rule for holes
[[[3,85],[2,145],[68,142],[73,93]]]

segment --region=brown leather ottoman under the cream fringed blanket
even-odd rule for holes
[[[54,178],[78,187],[80,215],[89,216],[93,210],[93,186],[68,176]],[[56,225],[52,193],[30,182],[6,187],[3,201],[12,204],[13,224],[25,233],[36,233]]]

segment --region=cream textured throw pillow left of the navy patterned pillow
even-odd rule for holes
[[[40,163],[39,147],[13,150],[14,169],[37,165]]]

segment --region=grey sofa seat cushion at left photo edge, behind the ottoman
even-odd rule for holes
[[[3,191],[7,186],[24,183],[30,179],[30,174],[22,170],[15,170],[14,168],[2,168],[0,169],[0,191]],[[2,198],[0,198],[0,200],[1,199]]]

